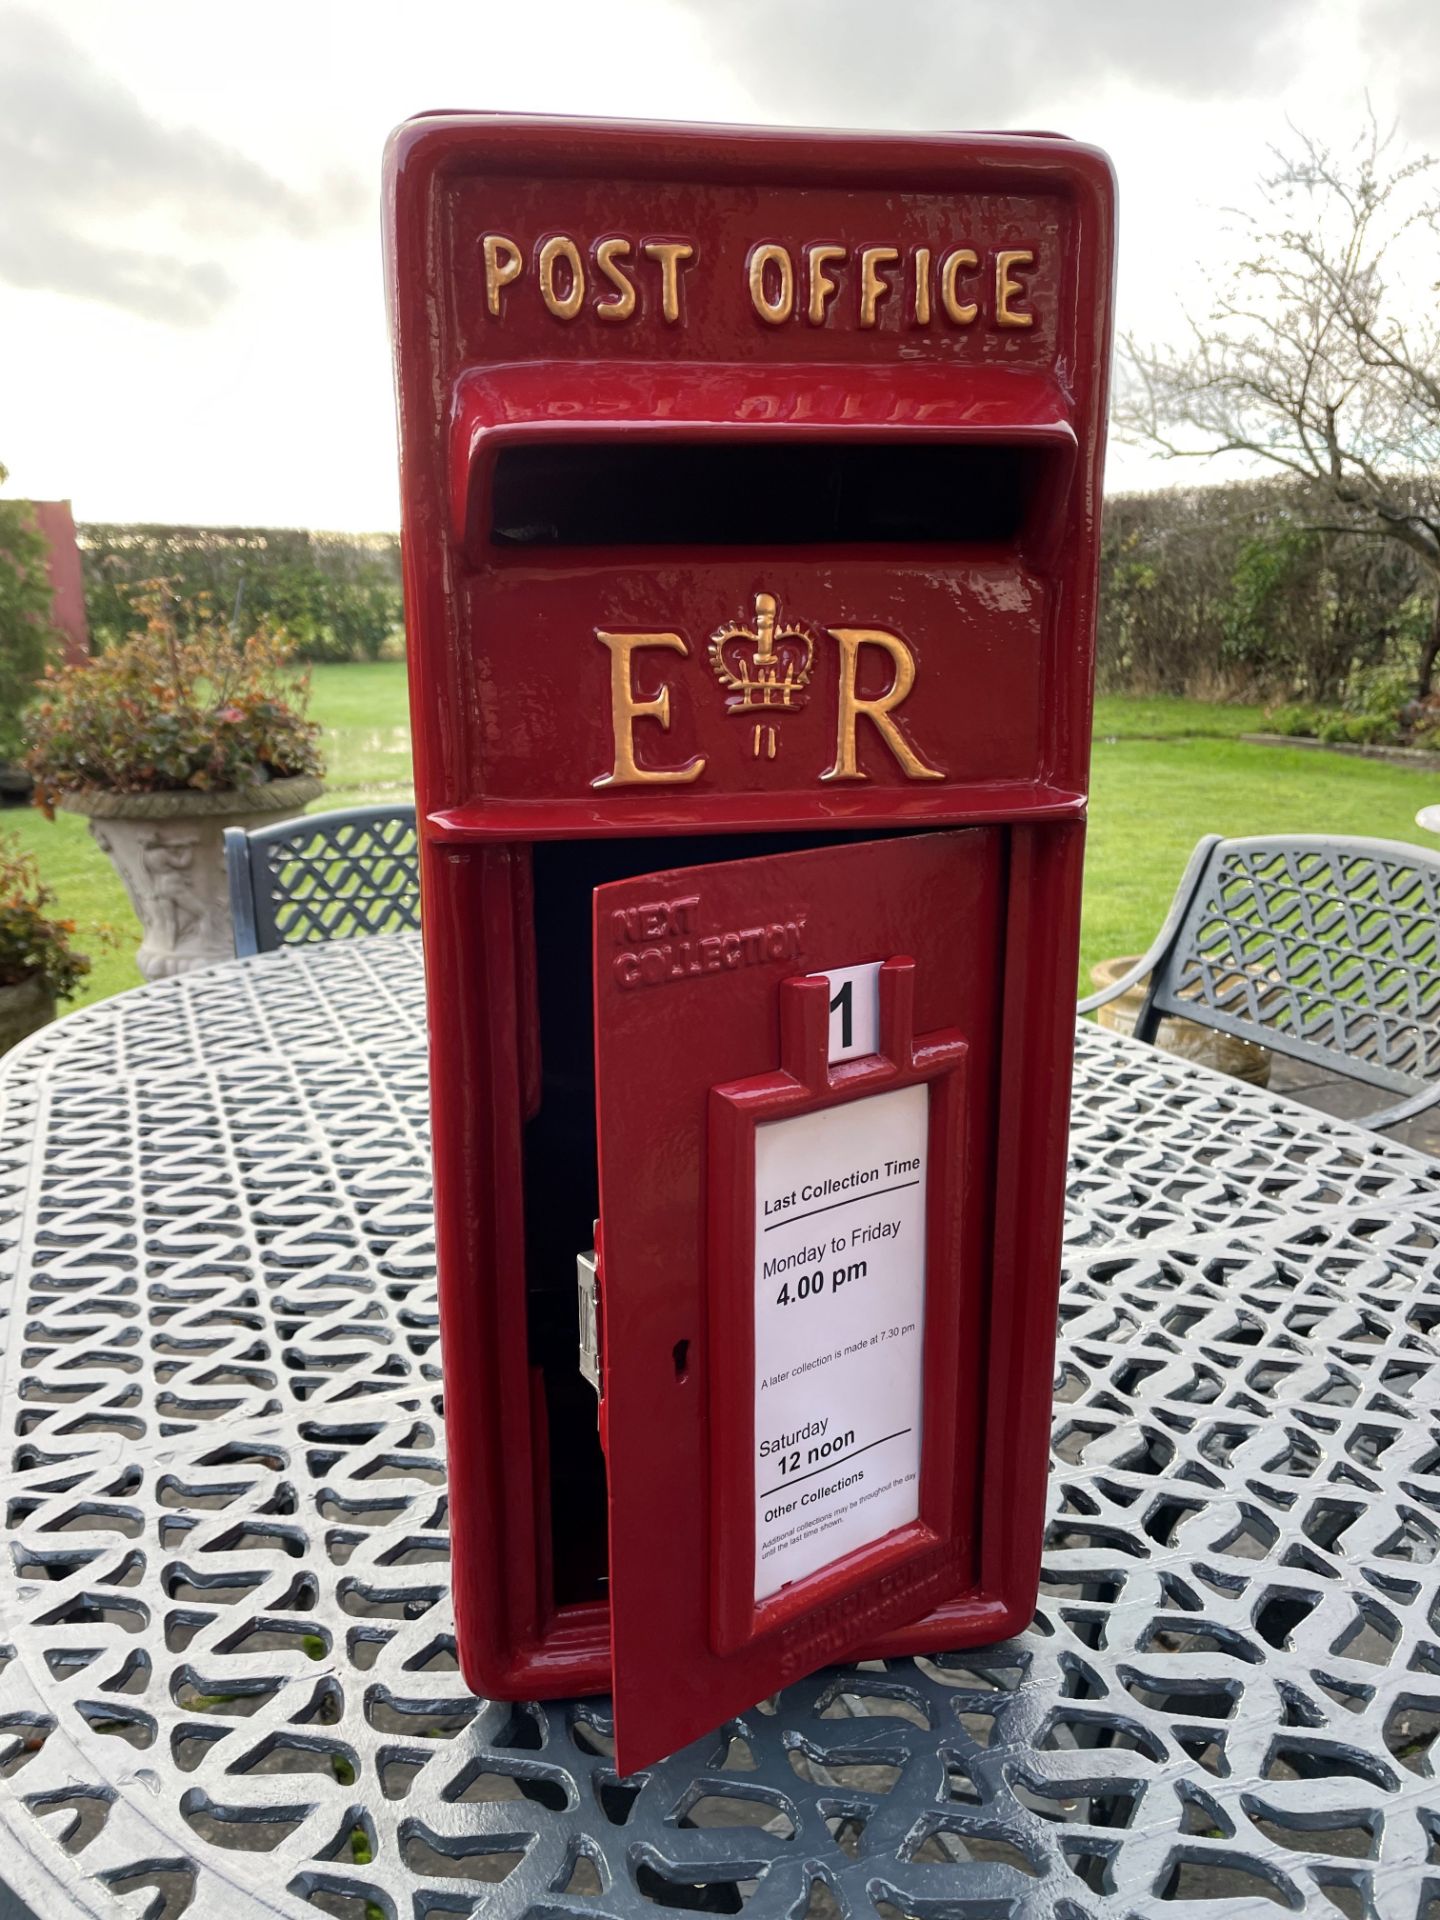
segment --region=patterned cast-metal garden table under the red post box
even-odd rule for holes
[[[1440,1912],[1440,1164],[1083,1029],[1035,1624],[618,1780],[455,1668],[424,1133],[409,935],[0,1071],[38,1914]]]

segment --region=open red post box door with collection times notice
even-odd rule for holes
[[[626,1772],[975,1586],[1004,851],[595,889]]]

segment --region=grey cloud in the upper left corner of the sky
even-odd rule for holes
[[[303,194],[194,127],[159,123],[40,13],[0,6],[0,278],[13,286],[200,326],[234,294],[217,234],[309,238],[363,205],[353,180]],[[136,219],[169,244],[117,238]]]

